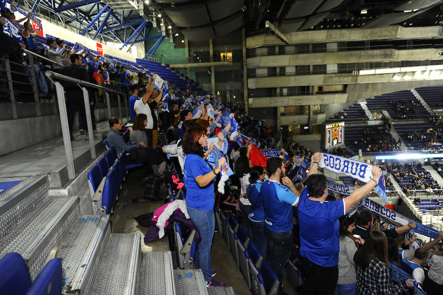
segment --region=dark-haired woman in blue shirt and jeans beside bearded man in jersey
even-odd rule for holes
[[[264,181],[265,172],[261,166],[253,166],[249,177],[250,185],[246,189],[246,195],[251,202],[251,210],[249,211],[249,224],[253,231],[251,240],[266,259],[266,236],[264,234],[264,208],[263,199],[261,198],[261,183]]]

